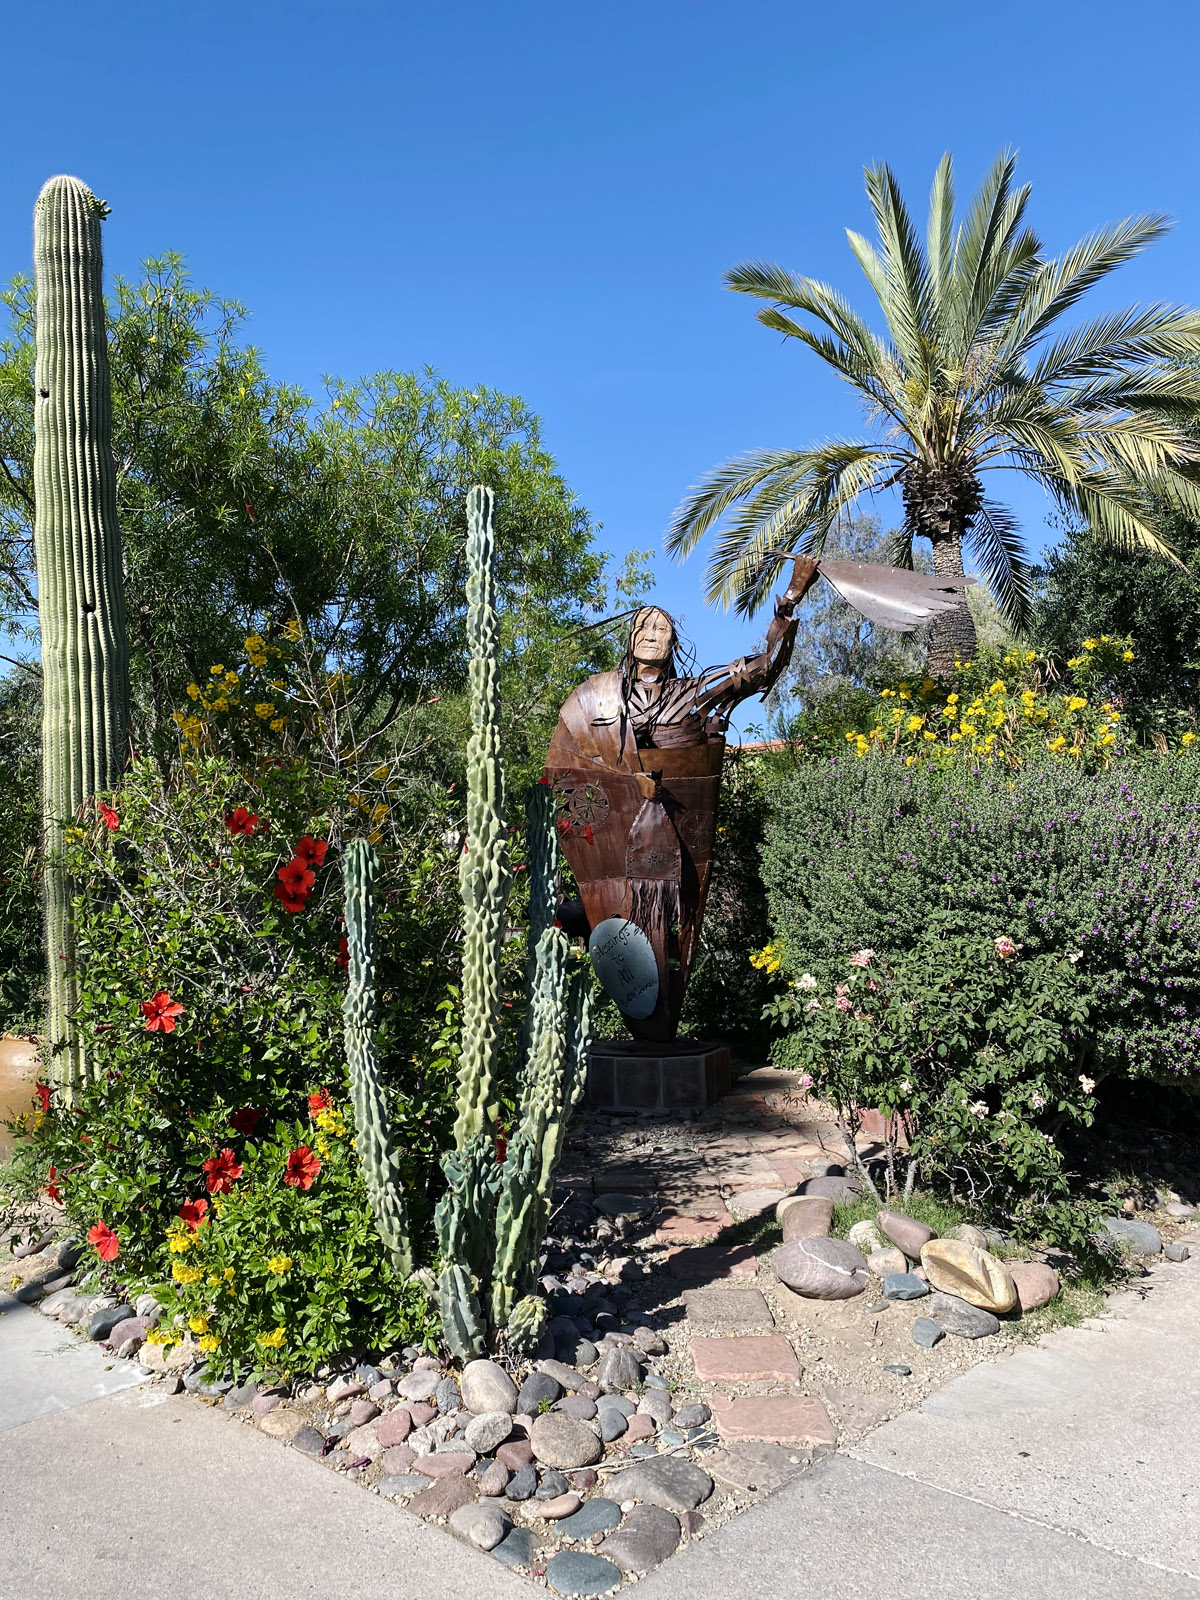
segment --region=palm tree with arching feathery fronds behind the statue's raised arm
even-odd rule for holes
[[[1002,154],[955,226],[946,155],[922,245],[890,168],[867,170],[878,243],[848,238],[883,336],[813,278],[763,261],[726,274],[736,293],[771,302],[758,320],[814,350],[878,427],[870,438],[739,456],[686,496],[667,536],[680,555],[739,507],[709,562],[712,602],[752,613],[781,552],[819,550],[862,496],[896,485],[898,558],[928,539],[934,573],[949,578],[968,549],[1013,626],[1029,616],[1029,568],[1011,512],[984,494],[989,470],[1026,474],[1122,549],[1170,555],[1166,512],[1200,517],[1200,446],[1182,426],[1200,406],[1200,314],[1157,302],[1054,333],[1088,290],[1166,232],[1166,219],[1128,218],[1050,258],[1024,222],[1029,186],[1014,187],[1013,173],[1014,157]],[[936,677],[973,653],[965,606],[934,621]]]

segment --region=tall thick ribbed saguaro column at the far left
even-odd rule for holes
[[[48,1043],[51,1070],[74,1083],[85,1062],[70,1014],[70,890],[62,829],[110,789],[128,744],[117,485],[101,282],[107,206],[77,178],[51,178],[34,210],[37,360],[34,547],[42,619]]]

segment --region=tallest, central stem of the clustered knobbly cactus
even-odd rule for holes
[[[467,496],[467,648],[470,741],[467,744],[467,838],[459,862],[462,894],[462,1045],[454,1146],[494,1130],[499,1051],[499,963],[504,907],[512,888],[504,834],[504,768],[499,741],[499,618],[496,614],[494,496]]]

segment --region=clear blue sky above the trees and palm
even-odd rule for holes
[[[182,251],[277,378],[429,363],[520,394],[618,554],[726,456],[858,429],[720,275],[773,258],[866,309],[867,162],[923,214],[942,150],[962,197],[1013,144],[1051,248],[1178,219],[1098,309],[1200,296],[1200,14],[1170,0],[70,0],[6,5],[3,38],[0,274],[72,171],[114,208],[109,270]],[[1040,547],[1045,506],[1011,498]],[[659,555],[701,656],[747,648],[699,579]]]

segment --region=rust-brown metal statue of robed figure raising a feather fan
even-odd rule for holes
[[[795,608],[819,578],[902,634],[962,605],[973,581],[797,555],[758,654],[680,677],[674,621],[642,606],[622,664],[581,683],[558,714],[546,778],[560,842],[592,965],[634,1038],[675,1038],[712,874],[725,730],[787,666]]]

